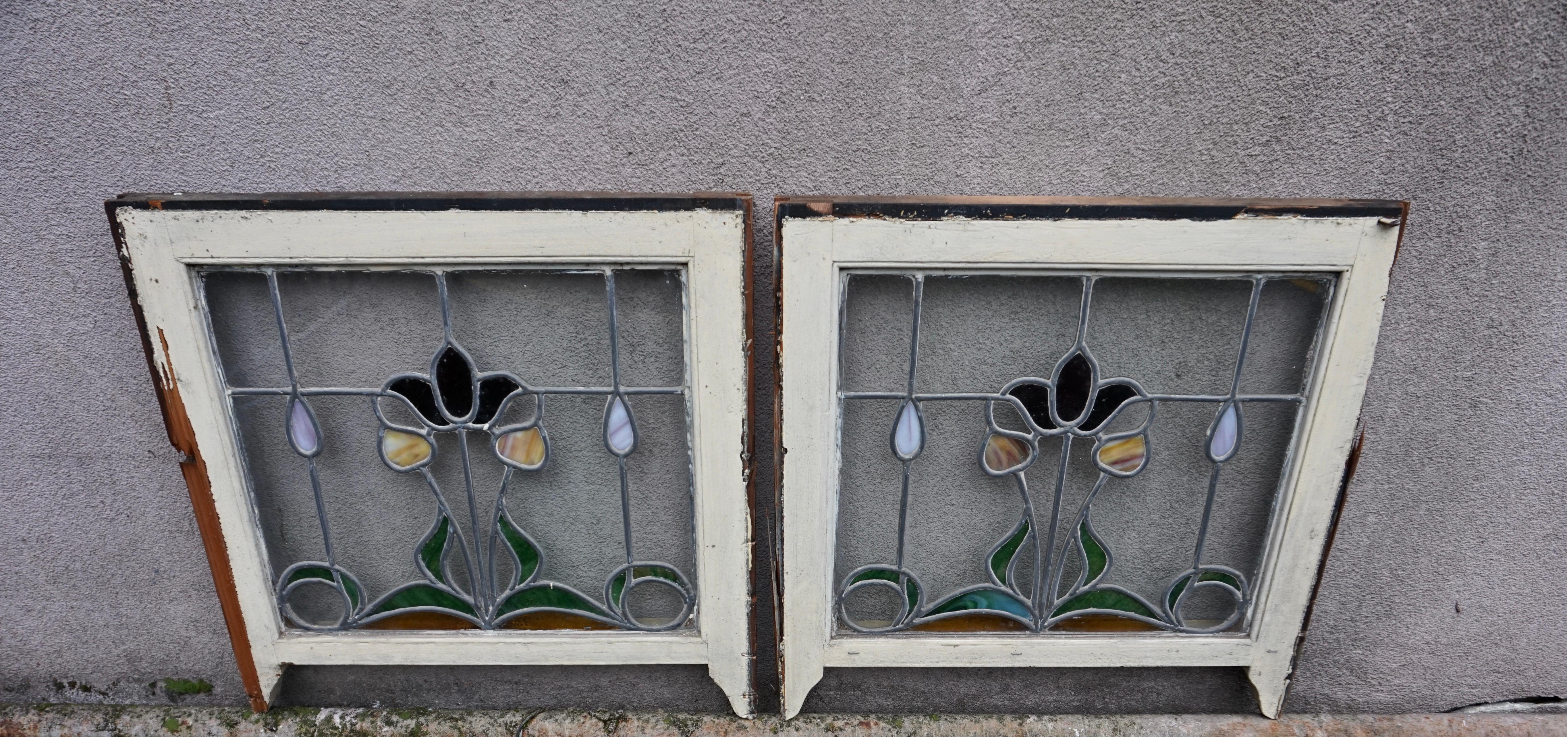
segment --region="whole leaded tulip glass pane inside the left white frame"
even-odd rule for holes
[[[288,627],[694,626],[683,271],[201,271]]]

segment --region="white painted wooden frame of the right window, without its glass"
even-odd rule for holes
[[[1404,202],[780,198],[784,717],[824,666],[1244,666],[1283,704],[1376,348]],[[841,635],[834,626],[840,274],[1323,271],[1338,284],[1244,635]],[[787,452],[787,456],[784,455]]]

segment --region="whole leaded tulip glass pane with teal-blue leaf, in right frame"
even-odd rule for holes
[[[1244,632],[1334,287],[845,273],[838,630]]]

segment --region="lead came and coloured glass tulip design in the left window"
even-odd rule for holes
[[[635,267],[633,267],[635,268]],[[586,619],[600,621],[621,629],[663,632],[685,626],[696,613],[696,594],[685,574],[675,566],[663,561],[636,561],[632,541],[630,519],[630,483],[627,472],[627,456],[636,448],[638,428],[627,397],[632,395],[682,395],[689,400],[689,365],[683,367],[682,386],[624,386],[621,381],[619,356],[619,325],[616,304],[616,270],[603,268],[599,273],[605,279],[605,296],[610,312],[610,362],[611,386],[608,387],[530,387],[509,372],[480,373],[472,358],[458,343],[453,325],[453,307],[445,270],[428,271],[437,287],[442,345],[437,348],[429,364],[429,375],[398,373],[381,387],[301,387],[295,370],[295,356],[288,340],[288,328],[284,320],[282,295],[277,287],[277,274],[271,267],[207,271],[249,271],[260,273],[268,282],[268,296],[273,306],[273,317],[277,323],[279,343],[284,353],[284,364],[288,373],[287,387],[232,387],[224,386],[230,403],[237,397],[287,397],[288,400],[288,442],[296,453],[306,458],[310,472],[312,494],[317,508],[317,521],[321,527],[321,539],[326,561],[299,561],[288,566],[277,577],[277,607],[293,627],[310,630],[342,630],[360,627],[404,613],[439,613],[464,619],[473,627],[495,629],[530,613],[556,612]],[[309,270],[304,270],[309,271]],[[685,301],[685,279],[680,281],[682,300]],[[688,359],[686,359],[688,361]],[[464,397],[459,373],[467,376]],[[442,378],[445,376],[445,378]],[[450,394],[458,392],[458,394]],[[500,394],[498,394],[500,392]],[[448,395],[450,394],[450,395]],[[589,596],[564,583],[541,579],[539,572],[545,565],[544,550],[519,528],[506,510],[506,489],[511,486],[514,470],[537,470],[548,456],[548,437],[544,430],[544,398],[548,395],[599,395],[606,397],[603,444],[616,456],[619,466],[622,533],[625,543],[625,565],[617,566],[606,579],[603,604],[594,602]],[[321,488],[317,455],[323,447],[320,423],[309,397],[364,397],[370,400],[371,411],[381,423],[381,441],[378,450],[382,461],[395,472],[418,472],[425,486],[436,499],[436,522],[414,550],[415,569],[422,571],[425,580],[415,580],[395,586],[373,602],[365,601],[365,588],[346,569],[337,565],[337,552],[332,544],[331,525],[326,514],[326,499]],[[514,401],[536,400],[534,414],[520,423],[506,425],[508,408]],[[398,425],[382,411],[382,400],[390,400],[403,406],[417,420],[417,425]],[[498,405],[495,405],[498,401]],[[462,416],[454,416],[454,408],[465,406]],[[616,420],[611,423],[611,419]],[[689,416],[686,417],[689,423]],[[451,433],[458,442],[462,464],[464,491],[469,502],[470,528],[473,544],[469,544],[469,533],[456,524],[450,506],[440,491],[429,464],[437,452],[437,434]],[[473,475],[473,463],[469,439],[473,433],[487,436],[492,452],[503,463],[500,488],[495,497],[495,514],[490,521],[489,535],[481,535],[480,502]],[[691,455],[689,428],[686,431],[686,456]],[[688,474],[693,472],[689,463]],[[252,481],[254,483],[254,481]],[[688,483],[694,480],[688,478]],[[694,514],[694,508],[688,510]],[[487,541],[487,543],[486,543]],[[503,586],[498,580],[497,549],[505,544],[512,561],[512,575]],[[456,547],[462,554],[462,566],[467,574],[467,590],[451,580],[447,565],[448,552]],[[332,586],[343,601],[343,615],[331,624],[320,624],[299,616],[290,604],[293,593],[309,583]],[[657,583],[672,588],[682,602],[680,612],[666,621],[641,621],[630,612],[630,593],[635,586]]]

